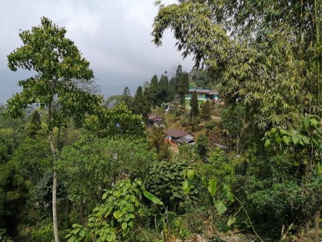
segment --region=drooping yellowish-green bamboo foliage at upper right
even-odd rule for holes
[[[221,76],[220,97],[244,104],[249,123],[265,130],[292,126],[310,99],[304,67],[312,39],[303,36],[314,38],[312,13],[311,3],[184,0],[159,5],[152,36],[159,46],[172,30],[184,57]]]

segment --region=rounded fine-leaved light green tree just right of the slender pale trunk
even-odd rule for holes
[[[101,201],[103,189],[124,177],[143,178],[154,160],[156,154],[147,144],[87,136],[62,150],[58,167],[70,201],[75,207],[85,205],[86,217]]]

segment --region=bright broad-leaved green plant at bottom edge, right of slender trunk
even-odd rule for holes
[[[117,237],[126,236],[130,229],[137,225],[137,218],[143,215],[141,193],[152,202],[162,204],[154,195],[145,191],[141,180],[119,181],[116,186],[103,194],[104,203],[96,206],[89,216],[88,227],[74,224],[73,230],[67,234],[69,242],[117,241]]]

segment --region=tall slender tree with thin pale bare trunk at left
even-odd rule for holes
[[[77,88],[77,79],[93,78],[89,62],[81,56],[75,44],[65,37],[66,30],[41,18],[41,25],[22,31],[19,36],[23,46],[8,55],[9,68],[33,69],[37,74],[20,80],[23,88],[8,100],[7,114],[22,115],[31,104],[40,104],[48,111],[46,120],[50,147],[54,158],[52,186],[52,218],[55,242],[59,241],[57,223],[57,170],[55,160],[59,154],[61,129],[72,118],[83,121],[102,103],[102,98]]]

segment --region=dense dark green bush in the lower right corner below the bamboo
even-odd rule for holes
[[[246,175],[236,180],[236,196],[261,234],[278,238],[283,225],[304,224],[321,206],[321,177],[313,173],[304,181],[297,169],[292,159],[283,156],[257,156],[256,163],[249,160]],[[237,221],[250,226],[243,213]]]

